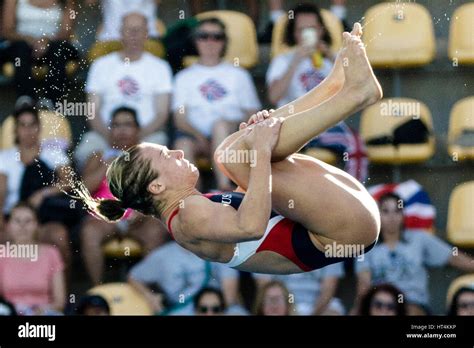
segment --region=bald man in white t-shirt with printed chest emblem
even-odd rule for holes
[[[85,134],[76,149],[79,168],[91,153],[107,148],[111,112],[120,106],[137,111],[141,140],[167,143],[162,129],[168,120],[172,72],[167,62],[144,51],[146,38],[146,18],[128,14],[122,25],[123,50],[92,64],[86,92],[95,113],[90,120],[92,132]]]

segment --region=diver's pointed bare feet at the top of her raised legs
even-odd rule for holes
[[[354,95],[361,108],[365,108],[382,98],[380,83],[374,75],[364,44],[360,39],[362,28],[354,24],[352,33],[343,33],[343,49],[341,51],[345,83],[343,90]]]

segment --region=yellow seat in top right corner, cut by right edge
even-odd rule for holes
[[[474,3],[459,6],[451,16],[448,55],[459,64],[474,64]]]

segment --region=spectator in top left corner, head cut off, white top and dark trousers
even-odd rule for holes
[[[17,94],[36,98],[33,63],[48,66],[45,95],[52,106],[66,91],[66,63],[77,59],[77,50],[69,42],[74,28],[74,1],[5,0],[2,32],[10,41],[7,54],[15,66]]]

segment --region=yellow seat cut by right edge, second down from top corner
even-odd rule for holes
[[[456,139],[464,130],[474,131],[474,97],[461,99],[454,104],[449,118],[448,152],[457,160],[474,159],[474,146],[461,146],[455,144]]]

